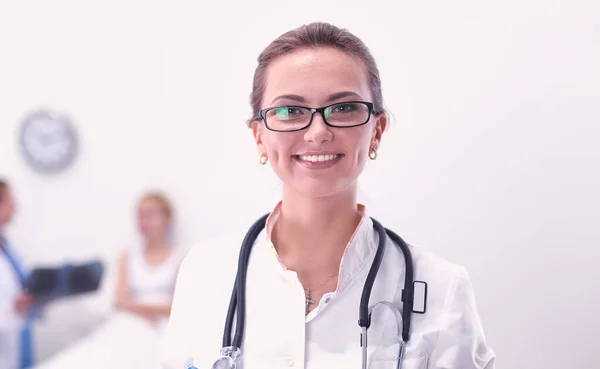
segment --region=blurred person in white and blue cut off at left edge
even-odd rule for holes
[[[0,179],[0,368],[28,368],[33,362],[27,271],[4,235],[15,213],[6,180]]]

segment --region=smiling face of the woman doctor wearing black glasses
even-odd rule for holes
[[[372,102],[364,64],[333,48],[301,49],[275,59],[265,87],[262,109]],[[315,113],[312,124],[301,131],[273,132],[262,121],[255,121],[252,129],[259,153],[267,155],[286,186],[309,197],[325,197],[355,186],[370,149],[379,147],[386,124],[381,114],[372,115],[362,126],[333,128]],[[316,155],[323,156],[318,163],[311,162]]]

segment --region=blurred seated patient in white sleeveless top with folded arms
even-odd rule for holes
[[[119,258],[115,313],[90,336],[36,369],[160,368],[157,345],[170,314],[185,249],[170,240],[173,209],[163,194],[141,197],[137,223],[142,242]]]

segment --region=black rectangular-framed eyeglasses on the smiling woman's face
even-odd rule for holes
[[[373,103],[345,101],[321,108],[306,106],[275,106],[258,112],[258,119],[275,132],[300,131],[310,126],[315,113],[320,113],[330,127],[350,128],[366,124],[376,114]]]

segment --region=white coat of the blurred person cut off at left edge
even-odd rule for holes
[[[19,367],[19,333],[24,320],[14,309],[21,284],[6,255],[0,251],[0,368]]]

